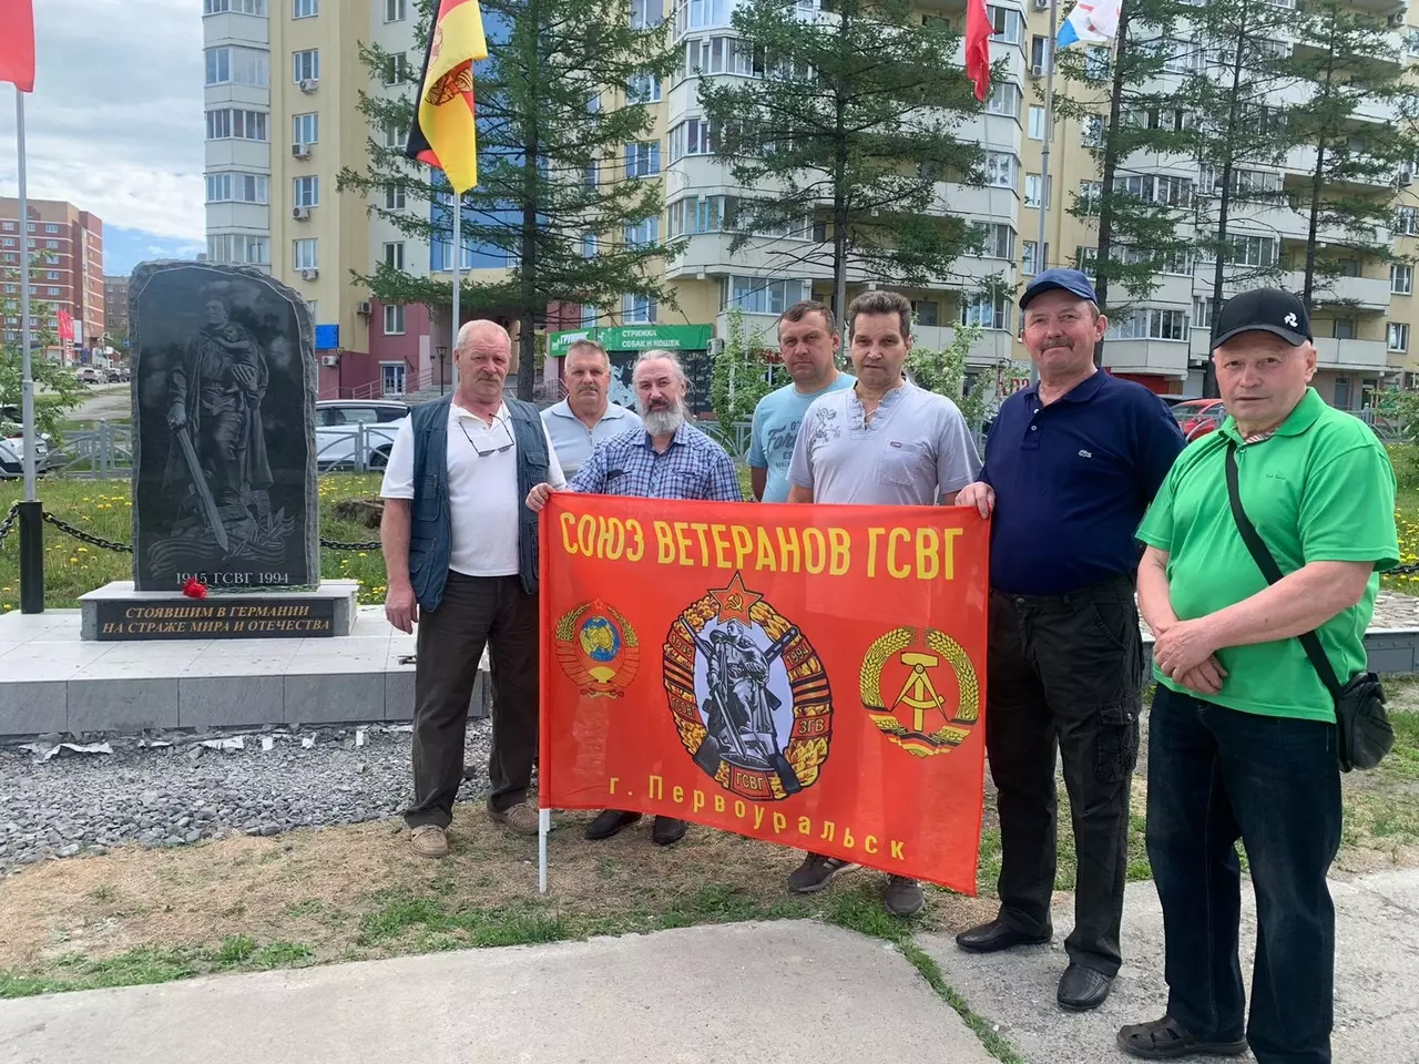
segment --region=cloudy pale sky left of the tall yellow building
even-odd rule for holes
[[[200,0],[35,0],[28,193],[104,220],[105,272],[206,248]],[[18,190],[0,85],[0,196]]]

